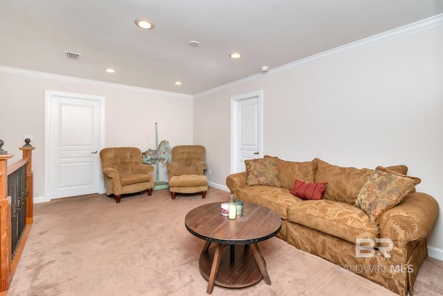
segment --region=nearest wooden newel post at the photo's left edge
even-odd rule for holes
[[[0,291],[9,287],[11,269],[11,209],[8,198],[8,159],[0,140]]]

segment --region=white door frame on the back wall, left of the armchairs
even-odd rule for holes
[[[100,102],[100,150],[105,147],[105,97],[89,94],[75,94],[71,92],[45,91],[45,119],[44,119],[44,198],[38,202],[51,200],[51,101],[53,96],[62,96],[69,99],[82,99]],[[101,166],[101,164],[100,164]],[[100,169],[101,171],[101,169]],[[99,193],[105,193],[105,180],[100,174],[98,179]]]

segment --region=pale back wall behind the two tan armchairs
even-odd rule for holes
[[[44,198],[44,103],[45,90],[105,96],[105,147],[134,146],[155,149],[155,122],[159,141],[171,146],[192,144],[192,96],[150,92],[147,89],[0,69],[0,139],[3,150],[21,159],[24,134],[32,134],[34,196]],[[165,165],[160,180],[168,180]],[[155,175],[155,173],[154,173]]]

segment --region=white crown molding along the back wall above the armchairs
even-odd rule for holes
[[[58,80],[58,81],[63,81],[63,82],[80,83],[82,85],[92,85],[92,86],[97,86],[97,87],[111,87],[114,89],[123,89],[123,90],[131,91],[131,92],[141,92],[143,94],[157,94],[157,95],[161,95],[161,96],[170,96],[170,97],[176,97],[176,98],[190,98],[190,99],[193,98],[193,96],[189,95],[189,94],[179,94],[179,93],[175,93],[175,92],[164,92],[164,91],[160,91],[160,90],[156,90],[156,89],[147,89],[144,87],[133,87],[131,85],[120,85],[118,83],[102,82],[102,81],[98,81],[98,80],[77,78],[77,77],[72,77],[72,76],[64,76],[64,75],[58,75],[58,74],[53,74],[53,73],[44,73],[44,72],[39,72],[39,71],[18,69],[18,68],[6,67],[6,66],[0,66],[0,72],[21,75],[21,76],[30,76],[30,77],[35,77],[35,78]]]

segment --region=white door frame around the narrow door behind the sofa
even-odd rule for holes
[[[238,103],[239,101],[246,100],[248,98],[258,97],[258,157],[263,157],[263,90],[257,92],[250,92],[248,94],[241,94],[239,96],[233,96],[230,98],[230,173],[238,173],[235,170],[237,163],[236,153],[239,150],[239,143],[237,143],[239,133],[239,123],[237,122],[238,116]]]

